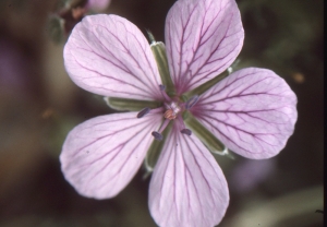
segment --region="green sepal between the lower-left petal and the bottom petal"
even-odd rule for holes
[[[154,140],[154,142],[152,143],[150,147],[148,148],[148,151],[146,153],[144,164],[145,164],[145,168],[148,172],[152,172],[153,169],[155,168],[156,164],[157,164],[157,160],[158,160],[158,158],[160,156],[160,153],[164,148],[167,136],[168,136],[169,132],[171,131],[172,122],[173,121],[170,121],[169,124],[167,126],[167,128],[164,130],[162,141]]]

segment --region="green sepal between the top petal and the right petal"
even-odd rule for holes
[[[227,77],[229,75],[229,72],[226,70],[221,74],[217,75],[216,77],[207,81],[206,83],[199,85],[198,87],[195,87],[194,89],[191,89],[189,92],[185,92],[181,95],[181,99],[183,101],[189,100],[194,95],[202,95],[203,93],[207,92],[209,88],[211,88],[215,84],[217,84],[222,79]]]

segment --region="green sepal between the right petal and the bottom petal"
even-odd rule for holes
[[[184,122],[211,153],[225,153],[225,145],[209,131],[205,128],[201,122],[198,122],[190,111],[185,111],[183,113]]]

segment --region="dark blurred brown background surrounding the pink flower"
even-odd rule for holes
[[[238,0],[245,40],[237,68],[268,68],[298,95],[286,148],[267,160],[217,157],[230,189],[222,227],[323,226],[323,1]],[[114,199],[78,195],[58,156],[68,132],[112,112],[63,67],[69,32],[89,13],[126,17],[164,39],[174,0],[0,0],[0,226],[153,227],[141,169]]]

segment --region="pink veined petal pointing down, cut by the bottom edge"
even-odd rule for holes
[[[229,192],[217,162],[194,135],[172,130],[149,186],[152,216],[162,227],[217,225]]]

